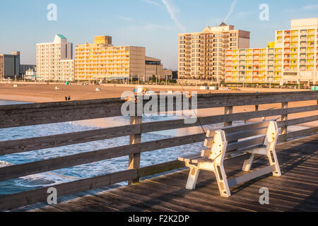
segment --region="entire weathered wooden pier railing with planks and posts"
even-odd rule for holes
[[[142,123],[141,116],[131,116],[131,124],[116,126],[105,129],[95,129],[90,131],[80,131],[76,133],[64,133],[52,136],[35,138],[25,138],[15,141],[0,142],[0,156],[13,153],[25,153],[32,150],[43,150],[46,148],[56,148],[65,145],[78,143],[88,143],[122,136],[130,136],[130,143],[124,146],[94,150],[86,153],[77,153],[63,157],[54,157],[48,160],[28,162],[20,165],[9,165],[0,168],[0,181],[16,179],[41,172],[49,172],[55,169],[63,169],[76,165],[83,165],[100,160],[109,160],[115,157],[129,156],[127,162],[128,169],[122,172],[105,174],[99,177],[81,179],[74,182],[54,185],[59,196],[76,194],[80,191],[98,189],[119,182],[128,181],[129,184],[139,182],[141,177],[151,176],[172,169],[184,167],[183,162],[177,160],[165,162],[159,165],[140,167],[141,153],[172,148],[179,145],[203,142],[205,134],[195,133],[187,136],[177,136],[159,141],[141,142],[141,134],[153,131],[165,131],[170,129],[182,129],[192,126],[219,124],[224,122],[225,126],[232,124],[232,121],[242,121],[244,119],[257,119],[260,117],[281,116],[278,126],[282,134],[279,141],[308,136],[318,132],[318,127],[303,129],[288,133],[288,126],[304,124],[310,121],[318,121],[318,115],[312,114],[310,117],[288,119],[288,114],[301,112],[313,112],[318,110],[318,92],[290,92],[290,93],[242,93],[242,94],[214,94],[198,95],[197,108],[224,107],[225,114],[200,117],[194,124],[184,124],[184,119],[170,121],[153,121]],[[314,105],[305,107],[290,107],[288,102],[299,102],[314,100]],[[146,102],[146,101],[145,101]],[[281,103],[279,109],[268,109],[259,111],[258,105]],[[121,108],[124,100],[84,100],[73,102],[52,102],[32,105],[8,105],[0,107],[0,129],[31,126],[37,124],[50,124],[65,121],[78,121],[86,119],[99,119],[106,117],[121,116]],[[145,103],[143,103],[145,104]],[[254,112],[232,113],[233,107],[256,105]],[[174,109],[177,106],[177,99],[173,103]],[[168,106],[165,106],[166,110]],[[170,106],[171,107],[171,106]],[[198,152],[201,150],[198,150]],[[24,191],[18,194],[11,194],[0,197],[0,210],[16,208],[19,206],[47,200],[47,188]],[[1,188],[0,188],[1,189]]]

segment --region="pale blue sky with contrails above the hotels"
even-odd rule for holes
[[[57,21],[47,20],[48,4]],[[269,21],[259,20],[260,4]],[[0,53],[21,52],[21,64],[35,64],[35,44],[65,35],[73,44],[111,35],[114,45],[146,47],[149,57],[177,69],[177,34],[225,23],[251,32],[251,47],[264,47],[290,20],[318,17],[318,1],[294,0],[1,0]]]

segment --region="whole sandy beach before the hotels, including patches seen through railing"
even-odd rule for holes
[[[59,90],[55,90],[58,86]],[[114,98],[121,97],[125,91],[132,91],[136,85],[62,85],[62,84],[23,84],[19,83],[18,87],[13,87],[11,84],[0,84],[0,100],[20,101],[20,102],[61,102],[65,101],[65,96],[70,96],[71,100],[92,100],[92,99],[103,99],[103,98]],[[182,92],[183,89],[186,91],[196,91],[198,93],[209,93],[209,90],[200,90],[199,87],[182,87],[179,85],[145,85],[144,87],[149,88],[155,92],[173,90]],[[101,88],[100,92],[96,91],[96,88]],[[242,89],[242,88],[241,88]],[[212,93],[264,93],[264,92],[290,92],[300,90],[281,90],[281,89],[259,89],[259,88],[245,88],[240,91],[229,91],[229,90],[216,90]],[[310,91],[309,91],[310,92]],[[290,102],[288,107],[301,107],[308,105],[317,105],[317,101],[305,101],[305,102]],[[278,109],[281,108],[280,104],[271,105],[260,105],[259,110],[266,109]],[[234,107],[233,112],[239,113],[253,112],[255,109],[253,106],[240,106]],[[199,117],[211,116],[224,114],[223,108],[212,108],[212,109],[200,109]],[[316,112],[305,112],[299,114],[290,114],[288,119],[295,119],[300,117],[308,117]],[[277,117],[269,117],[267,119],[277,119]],[[252,121],[259,121],[261,119],[253,119]],[[103,126],[102,120],[95,121],[95,126]],[[300,126],[312,127],[318,126],[318,121],[310,122],[307,124],[301,124]]]

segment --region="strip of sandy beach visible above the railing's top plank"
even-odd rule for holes
[[[0,100],[12,100],[21,102],[60,102],[65,100],[65,96],[71,96],[71,100],[92,100],[103,98],[121,97],[124,91],[132,91],[136,85],[64,85],[64,84],[28,84],[17,83],[18,87],[13,87],[15,83],[0,83]],[[55,87],[59,90],[55,90]],[[199,87],[189,87],[180,85],[144,85],[155,92],[173,90],[183,92],[196,91],[198,93],[266,93],[266,92],[290,92],[287,89],[260,89],[260,88],[240,88],[238,91],[229,90],[200,90]],[[96,88],[101,88],[100,92]],[[295,90],[298,91],[298,90]]]

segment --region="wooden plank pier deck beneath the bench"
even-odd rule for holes
[[[37,203],[13,211],[318,211],[318,134],[281,143],[276,150],[282,177],[269,174],[235,186],[230,198],[220,197],[211,172],[201,172],[195,191],[185,189],[185,169],[132,186],[76,194],[57,205]],[[242,173],[236,161],[226,167],[229,174]],[[264,162],[260,157],[254,166]],[[262,187],[269,189],[269,205],[259,203]]]

